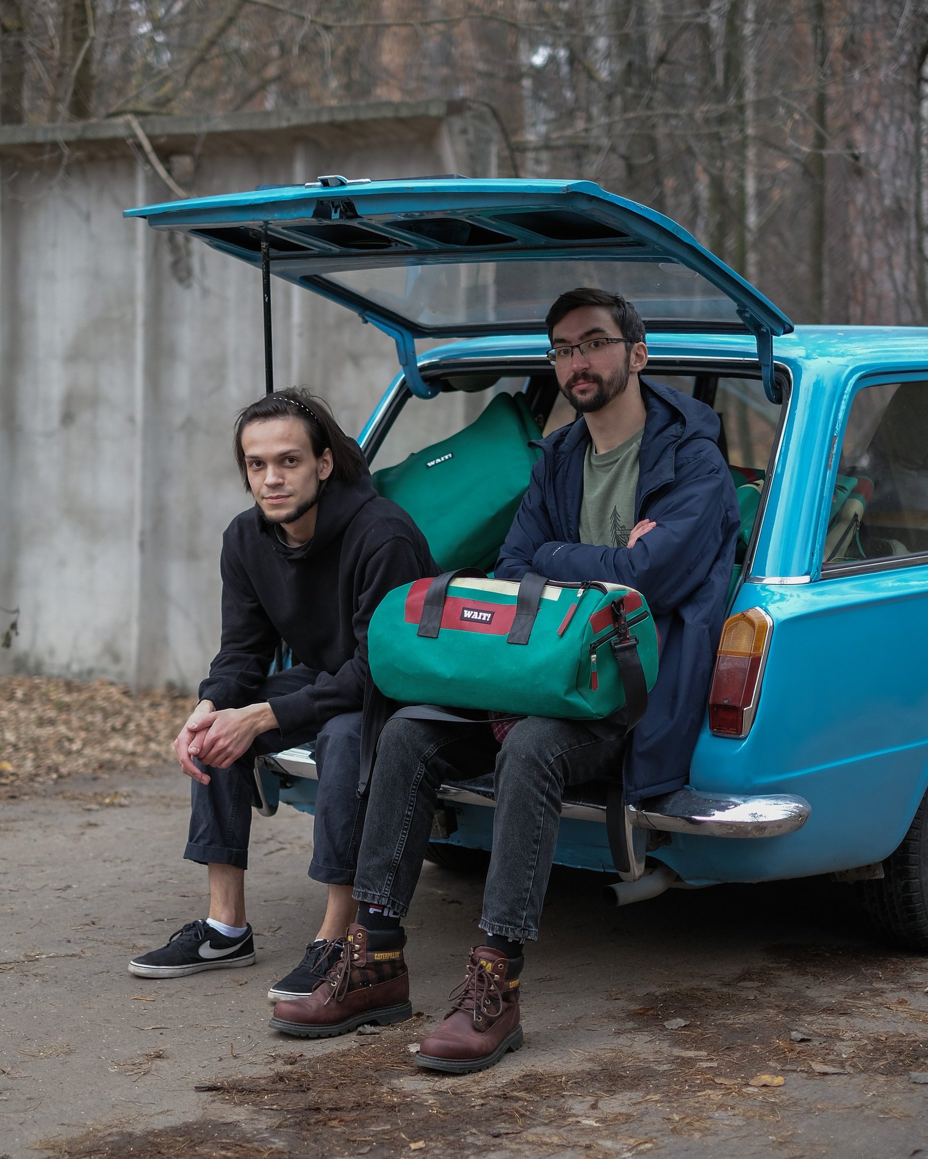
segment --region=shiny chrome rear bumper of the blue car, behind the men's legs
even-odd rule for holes
[[[316,780],[316,760],[309,749],[288,749],[261,758],[274,772]],[[477,804],[493,808],[488,793],[474,792],[466,783],[443,785],[440,799],[448,804]],[[684,788],[650,801],[629,806],[629,821],[636,829],[664,833],[694,833],[701,837],[783,837],[802,829],[812,811],[800,796],[786,793],[767,796],[734,796],[727,793],[701,793]],[[606,806],[565,801],[561,816],[606,824]]]

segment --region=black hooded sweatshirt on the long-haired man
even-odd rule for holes
[[[299,692],[270,706],[284,736],[357,712],[368,672],[368,624],[400,584],[437,575],[425,535],[364,474],[329,479],[316,534],[288,547],[255,504],[223,535],[223,636],[200,699],[217,708],[254,704],[280,640],[309,669]]]

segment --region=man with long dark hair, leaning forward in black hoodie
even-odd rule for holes
[[[209,867],[209,916],[129,969],[174,978],[255,961],[245,916],[255,757],[312,741],[319,794],[309,872],[327,884],[328,904],[303,961],[271,989],[276,1000],[309,994],[325,977],[331,943],[356,909],[368,622],[387,591],[437,569],[409,516],[374,490],[360,447],[321,399],[289,389],[253,402],[238,416],[234,454],[254,505],[223,537],[222,646],[174,742],[193,781],[184,858]],[[269,676],[281,641],[293,664]]]

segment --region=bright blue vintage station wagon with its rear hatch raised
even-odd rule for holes
[[[579,285],[631,299],[647,326],[645,378],[722,421],[738,555],[688,787],[624,807],[619,866],[604,794],[578,787],[556,861],[618,869],[619,904],[833,874],[861,883],[884,935],[928,948],[928,330],[795,328],[680,226],[583,181],[326,176],[128,213],[262,271],[269,389],[274,275],[396,341],[399,372],[360,444],[384,494],[403,479],[445,568],[486,566],[416,497],[441,490],[455,438],[508,409],[524,454],[573,421],[545,312]],[[448,510],[469,495],[458,483]],[[313,811],[311,748],[262,758],[256,778],[262,811]],[[445,786],[433,860],[485,858],[492,810],[490,779]]]

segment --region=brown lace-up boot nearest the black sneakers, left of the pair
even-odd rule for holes
[[[268,1023],[271,1030],[300,1038],[331,1038],[365,1022],[387,1026],[412,1018],[403,948],[379,949],[380,940],[375,934],[371,949],[368,931],[356,923],[348,926],[347,935],[339,939],[343,943],[341,961],[311,994],[277,1003]]]

